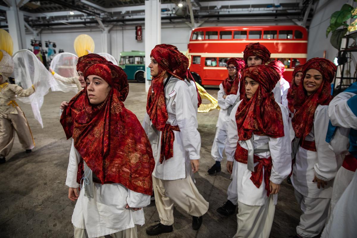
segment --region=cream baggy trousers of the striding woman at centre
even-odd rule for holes
[[[162,180],[152,176],[152,187],[160,223],[163,225],[174,224],[174,203],[195,217],[208,211],[208,202],[198,192],[191,176],[176,180]]]

